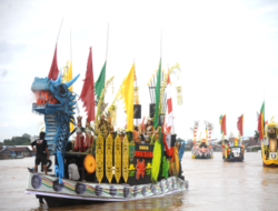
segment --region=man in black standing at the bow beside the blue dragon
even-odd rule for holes
[[[49,151],[48,151],[48,143],[44,140],[46,133],[40,132],[40,139],[34,140],[31,143],[31,148],[36,153],[36,160],[34,160],[34,171],[38,171],[38,165],[41,164],[43,165],[44,173],[48,174],[47,170],[47,161],[49,159]],[[33,148],[36,145],[36,149]]]

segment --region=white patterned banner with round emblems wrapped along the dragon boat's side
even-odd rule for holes
[[[182,191],[187,189],[188,182],[179,178],[168,178],[161,180],[158,185],[151,185],[151,183],[146,183],[143,185],[132,185],[132,188],[125,184],[111,185],[108,183],[91,183],[67,180],[63,179],[62,185],[58,184],[57,178],[44,174],[33,174],[29,173],[26,191],[27,193],[37,194],[38,192],[52,194],[62,194],[62,198],[78,199],[87,198],[87,200],[93,201],[97,199],[106,199],[106,201],[115,201],[115,199],[125,199],[123,189],[129,189],[128,200],[142,199],[148,197],[160,197],[165,193],[171,192],[172,187],[176,187],[175,191]],[[153,191],[155,189],[156,191]],[[163,191],[162,191],[163,189]],[[152,192],[152,191],[153,192]],[[127,190],[126,190],[127,192]],[[132,194],[136,193],[136,194]]]

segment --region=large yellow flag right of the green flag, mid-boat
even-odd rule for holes
[[[125,109],[127,112],[127,131],[133,131],[133,87],[135,87],[135,63],[128,76],[123,80],[121,88],[121,98],[123,98]]]

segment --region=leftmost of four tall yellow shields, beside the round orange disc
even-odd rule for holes
[[[97,147],[96,147],[96,159],[97,159],[97,172],[96,172],[96,177],[99,181],[99,183],[101,183],[102,179],[103,179],[103,138],[101,134],[98,135],[97,138]]]

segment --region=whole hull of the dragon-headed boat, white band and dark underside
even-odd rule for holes
[[[62,179],[61,184],[59,184],[54,177],[30,172],[26,193],[42,195],[48,207],[51,208],[101,201],[140,200],[162,197],[187,189],[188,182],[177,177],[162,179],[156,184],[139,185],[79,182],[67,179]]]

